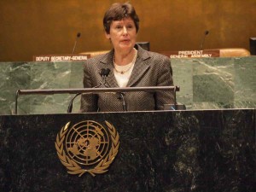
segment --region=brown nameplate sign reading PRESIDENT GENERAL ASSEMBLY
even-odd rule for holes
[[[208,50],[178,50],[178,51],[161,51],[160,54],[172,58],[207,58],[219,57],[218,49]]]

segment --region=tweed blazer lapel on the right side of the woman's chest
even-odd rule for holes
[[[128,81],[127,87],[131,87],[133,84],[139,80],[143,74],[147,71],[148,67],[148,60],[150,56],[148,55],[147,51],[145,51],[143,48],[138,46],[137,50],[137,60],[134,64],[132,73],[131,73],[131,78]]]

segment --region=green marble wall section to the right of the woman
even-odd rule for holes
[[[256,57],[172,59],[172,68],[188,109],[256,106]]]

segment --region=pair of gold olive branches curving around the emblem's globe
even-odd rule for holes
[[[119,133],[115,130],[113,125],[108,123],[108,121],[105,121],[105,123],[108,126],[108,131],[111,135],[111,141],[112,141],[111,148],[109,150],[108,155],[106,155],[106,157],[103,160],[100,160],[100,162],[92,169],[83,169],[81,166],[79,166],[78,163],[76,163],[74,160],[70,159],[67,156],[64,150],[63,143],[66,137],[70,122],[68,122],[67,125],[61,128],[61,131],[56,136],[55,148],[57,150],[58,157],[61,160],[61,164],[63,166],[66,166],[69,174],[79,175],[79,177],[81,177],[85,172],[89,172],[90,175],[95,177],[96,174],[102,174],[104,172],[108,172],[108,167],[113,162],[116,154],[118,153]]]

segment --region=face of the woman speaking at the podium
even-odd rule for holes
[[[113,20],[110,25],[109,34],[106,37],[111,39],[113,49],[131,51],[136,43],[137,30],[131,17],[123,20]]]

